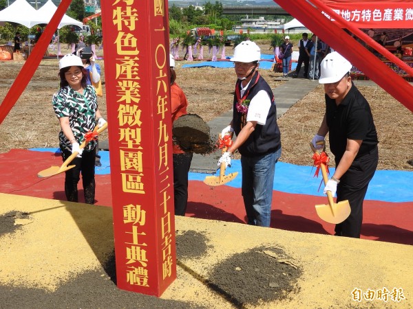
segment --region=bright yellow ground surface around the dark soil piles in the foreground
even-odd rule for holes
[[[101,270],[113,251],[109,207],[0,194],[0,216],[10,211],[28,212],[29,218],[16,222],[21,229],[0,236],[0,286],[53,293],[76,275]],[[233,308],[199,277],[208,279],[222,260],[262,245],[284,250],[303,275],[297,293],[259,308],[413,308],[412,246],[182,217],[176,218],[176,229],[204,235],[207,255],[179,261],[187,268],[178,266],[178,279],[162,299]],[[354,288],[361,293],[396,288],[401,301],[389,296],[387,303],[377,297],[357,302],[352,299]]]

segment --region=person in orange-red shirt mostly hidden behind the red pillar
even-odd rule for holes
[[[169,54],[171,70],[171,114],[172,123],[182,115],[187,115],[188,100],[184,91],[176,84],[175,59]],[[173,144],[173,190],[175,215],[185,216],[188,204],[188,173],[191,168],[192,152],[184,152],[177,144]]]

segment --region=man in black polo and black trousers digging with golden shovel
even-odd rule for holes
[[[335,227],[336,236],[360,238],[363,199],[379,163],[376,127],[367,100],[350,77],[352,65],[337,52],[321,62],[320,84],[326,92],[326,112],[311,141],[315,148],[329,134],[330,150],[335,155],[335,172],[324,187],[337,203],[348,200],[350,216]]]

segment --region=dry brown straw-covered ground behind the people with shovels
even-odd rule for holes
[[[257,42],[263,54],[271,54],[268,42]],[[69,52],[69,51],[67,51]],[[98,56],[101,56],[98,54]],[[63,47],[63,54],[65,49]],[[181,55],[182,54],[182,55]],[[233,54],[226,47],[226,56]],[[180,56],[183,56],[180,50]],[[204,53],[209,58],[208,53]],[[104,67],[103,60],[98,60]],[[177,61],[177,83],[189,100],[189,113],[197,114],[205,122],[229,111],[233,102],[235,73],[233,69],[189,68],[182,69],[184,61]],[[0,101],[21,70],[23,62],[0,62]],[[56,59],[42,60],[29,86],[14,105],[8,117],[0,125],[0,153],[12,148],[49,148],[58,146],[59,122],[52,110],[52,95],[59,80],[59,65]],[[282,73],[261,70],[260,73],[276,89],[285,81]],[[105,76],[103,73],[103,81]],[[105,87],[103,87],[105,90]],[[359,87],[366,96],[379,135],[379,170],[413,170],[407,163],[413,159],[411,128],[413,114],[394,100],[380,87]],[[277,95],[275,91],[275,100]],[[99,98],[100,111],[106,115],[106,100]],[[313,138],[324,113],[324,91],[319,86],[297,102],[282,117],[278,124],[282,133],[282,158],[280,161],[297,165],[312,165],[308,142]],[[107,138],[103,133],[102,139]]]

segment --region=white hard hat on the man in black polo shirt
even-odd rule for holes
[[[351,63],[337,52],[327,54],[326,58],[321,61],[320,84],[332,84],[338,82],[350,72]]]

